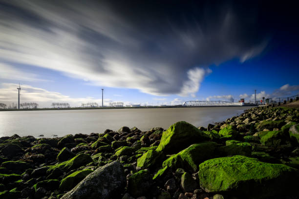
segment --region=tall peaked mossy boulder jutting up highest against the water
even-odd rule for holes
[[[165,154],[177,153],[193,143],[209,140],[210,138],[201,130],[186,121],[172,124],[163,132],[157,151]]]

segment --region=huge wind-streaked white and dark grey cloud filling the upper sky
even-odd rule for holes
[[[155,12],[151,4],[127,2],[11,0],[0,6],[0,62],[158,96],[195,97],[212,72],[208,65],[246,61],[268,43],[253,25],[254,12],[240,17],[230,5],[188,4],[177,15],[175,3]]]

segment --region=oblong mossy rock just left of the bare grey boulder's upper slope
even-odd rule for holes
[[[80,171],[76,171],[64,179],[61,180],[59,185],[59,189],[62,191],[68,191],[74,188],[82,179],[84,179],[88,174],[90,174],[92,170],[84,169]]]

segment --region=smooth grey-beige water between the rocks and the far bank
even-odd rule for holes
[[[103,133],[117,131],[122,126],[136,126],[142,131],[152,127],[167,129],[176,121],[187,121],[194,126],[224,121],[243,113],[250,107],[195,107],[149,109],[97,109],[53,111],[0,112],[0,137]]]

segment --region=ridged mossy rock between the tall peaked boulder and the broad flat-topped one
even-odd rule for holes
[[[162,165],[171,167],[172,171],[183,168],[195,172],[198,169],[198,164],[213,157],[216,145],[212,141],[192,144],[187,149],[166,159]]]

